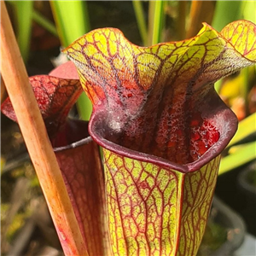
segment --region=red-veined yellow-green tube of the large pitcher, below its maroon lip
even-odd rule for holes
[[[180,173],[108,150],[104,155],[113,255],[195,255],[219,157],[197,172]]]

